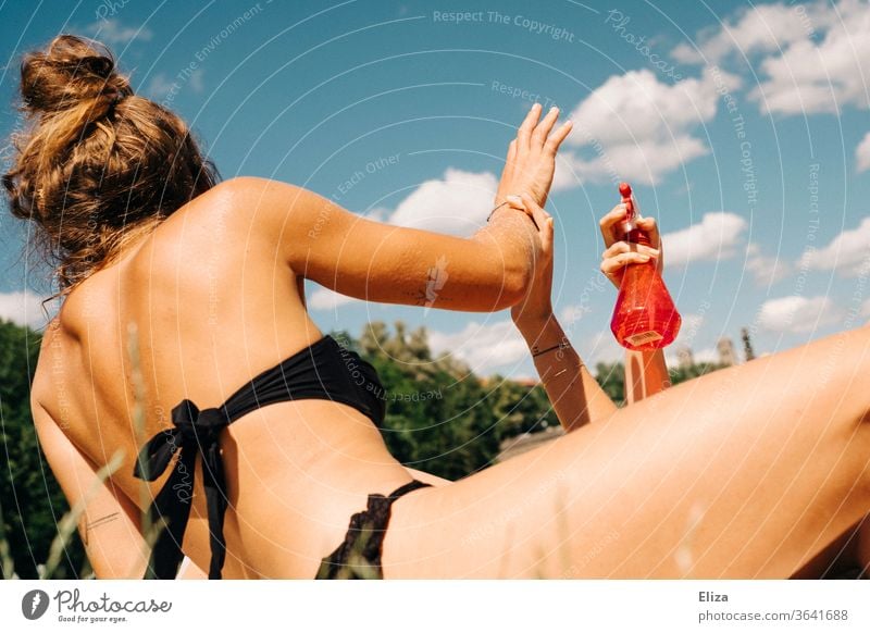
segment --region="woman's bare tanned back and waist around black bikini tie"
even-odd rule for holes
[[[121,451],[123,466],[112,480],[139,509],[165,477],[142,497],[147,484],[133,476],[136,455],[171,426],[174,406],[190,398],[200,408],[216,407],[253,375],[322,336],[306,313],[302,280],[275,257],[274,244],[247,231],[247,220],[220,186],[200,196],[76,287],[44,337],[34,380],[36,414],[50,417],[98,467]],[[137,381],[145,395],[142,429],[134,414]],[[336,402],[263,407],[225,435],[226,578],[238,575],[234,559],[245,557],[243,532],[248,549],[288,551],[275,556],[274,571],[313,578],[320,557],[341,541],[348,517],[364,508],[366,494],[410,479],[374,424]],[[196,481],[185,550],[207,568],[201,475]],[[262,526],[276,507],[298,519],[272,533]]]

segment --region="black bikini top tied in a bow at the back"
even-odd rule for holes
[[[377,426],[384,421],[384,388],[375,369],[355,351],[324,336],[277,365],[258,374],[220,407],[200,410],[188,399],[172,410],[173,429],[154,435],[139,452],[134,476],[152,482],[163,474],[175,452],[178,459],[149,509],[160,531],[146,579],[174,579],[184,559],[182,541],[190,517],[197,454],[209,509],[211,563],[209,578],[220,579],[226,557],[224,514],[227,507],[221,431],[260,407],[287,400],[318,398],[355,407]]]

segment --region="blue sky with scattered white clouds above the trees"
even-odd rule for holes
[[[524,112],[558,104],[575,128],[548,203],[556,306],[587,362],[620,355],[597,231],[619,179],[666,234],[678,345],[696,358],[744,326],[774,352],[870,316],[866,1],[7,2],[4,139],[21,54],[62,32],[107,42],[224,178],[462,235],[485,219]],[[0,315],[39,326],[48,288],[21,259],[25,232],[0,215]],[[507,312],[308,296],[325,331],[401,319],[482,373],[534,372]]]

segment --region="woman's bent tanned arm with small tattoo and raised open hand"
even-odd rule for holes
[[[538,121],[539,108],[530,111],[509,150],[511,177],[502,177],[494,207],[523,190],[546,198],[556,151],[570,131],[566,125],[549,134],[557,116]],[[373,222],[284,183],[236,178],[235,187],[252,223],[274,236],[276,257],[297,275],[359,299],[501,310],[523,297],[540,249],[531,218],[507,206],[461,238]]]

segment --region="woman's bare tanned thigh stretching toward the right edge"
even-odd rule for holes
[[[384,574],[788,578],[870,512],[868,375],[862,327],[417,491]]]

